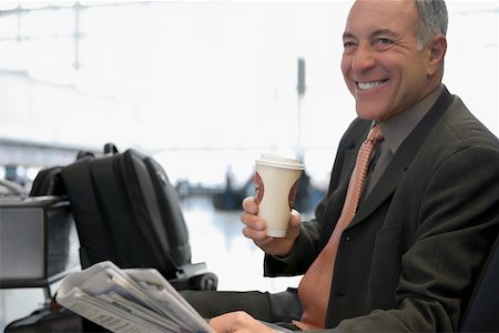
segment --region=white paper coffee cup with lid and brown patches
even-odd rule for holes
[[[258,216],[267,236],[284,238],[304,165],[296,159],[264,153],[255,162]]]

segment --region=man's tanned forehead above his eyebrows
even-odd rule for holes
[[[345,31],[355,32],[358,29],[413,31],[417,19],[415,0],[357,0],[348,14]]]

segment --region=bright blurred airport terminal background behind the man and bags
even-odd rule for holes
[[[165,170],[192,261],[216,273],[218,290],[296,286],[301,276],[263,278],[241,201],[254,194],[261,153],[294,155],[305,165],[296,208],[313,218],[355,118],[339,70],[352,2],[1,1],[0,205],[24,200],[41,170],[82,151],[134,149]],[[444,82],[499,135],[499,3],[447,7]],[[17,242],[2,234],[6,216],[2,279]],[[75,231],[68,238],[78,270]],[[43,306],[47,290],[27,286],[0,281],[0,331]]]

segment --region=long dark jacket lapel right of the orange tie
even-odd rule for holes
[[[407,168],[409,168],[410,162],[419,151],[425,139],[450,107],[452,101],[452,95],[450,95],[447,89],[444,89],[435,105],[428,111],[397,150],[378,183],[359,206],[348,228],[360,223],[369,216],[389,195],[391,195],[391,193],[395,192],[400,178],[404,175]]]

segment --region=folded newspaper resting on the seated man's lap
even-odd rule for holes
[[[96,263],[65,276],[57,301],[112,332],[214,332],[154,269]]]

